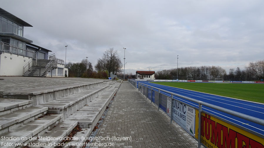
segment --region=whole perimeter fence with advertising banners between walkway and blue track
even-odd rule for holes
[[[146,96],[146,99],[150,99],[151,103],[157,105],[158,110],[163,110],[171,118],[171,123],[174,120],[186,132],[198,140],[198,148],[201,145],[208,148],[264,148],[264,135],[208,113],[203,110],[202,106],[207,106],[262,126],[264,126],[263,120],[137,81],[130,79],[128,81],[143,96]],[[198,103],[199,107],[190,106],[176,99],[176,97]]]

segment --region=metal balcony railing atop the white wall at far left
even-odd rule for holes
[[[33,50],[28,50],[23,47],[18,47],[15,45],[11,45],[6,42],[1,42],[0,41],[0,51],[2,52],[7,52],[7,53],[12,53],[16,55],[21,55],[25,57],[31,57],[31,58],[37,58],[37,52]]]

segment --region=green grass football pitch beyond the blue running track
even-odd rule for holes
[[[156,84],[264,103],[264,84],[153,82]]]

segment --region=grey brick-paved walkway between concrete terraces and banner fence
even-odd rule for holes
[[[171,125],[169,117],[157,110],[149,99],[143,97],[128,81],[124,81],[96,134],[96,137],[104,140],[95,140],[93,143],[112,142],[114,146],[111,147],[116,148],[197,147],[196,140],[175,123]],[[131,137],[131,140],[117,141],[112,136]]]

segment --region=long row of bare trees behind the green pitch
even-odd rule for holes
[[[155,73],[156,79],[177,79],[177,68],[164,69]],[[187,80],[215,80],[224,79],[224,81],[251,81],[264,78],[264,60],[250,62],[248,67],[241,70],[231,68],[227,73],[225,69],[219,66],[199,66],[199,67],[181,67],[178,68],[178,79]]]

